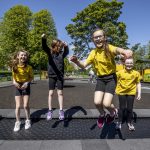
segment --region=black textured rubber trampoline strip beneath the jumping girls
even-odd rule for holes
[[[129,131],[126,124],[122,130],[115,129],[115,123],[106,124],[102,129],[96,125],[96,119],[33,119],[32,127],[24,129],[24,120],[21,130],[13,132],[14,119],[1,118],[0,140],[70,140],[70,139],[141,139],[150,138],[150,118],[138,119],[135,131]]]

